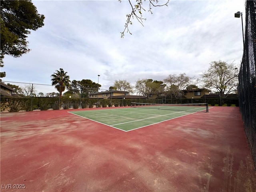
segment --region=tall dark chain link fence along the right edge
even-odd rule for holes
[[[246,1],[244,53],[238,96],[244,132],[256,169],[256,1]]]

